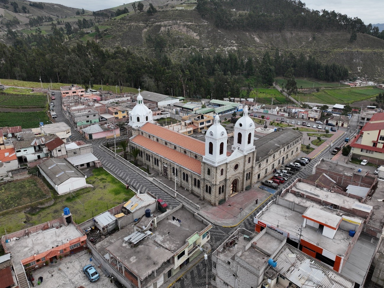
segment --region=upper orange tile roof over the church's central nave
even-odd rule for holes
[[[158,138],[164,139],[167,142],[175,144],[176,146],[180,146],[187,150],[193,151],[199,155],[205,155],[205,143],[200,140],[188,137],[179,132],[174,132],[152,123],[145,123],[140,128],[140,130]]]

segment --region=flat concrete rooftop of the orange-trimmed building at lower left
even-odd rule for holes
[[[30,236],[25,236],[19,240],[14,240],[5,245],[12,253],[12,261],[16,266],[21,266],[20,261],[32,256],[33,254],[43,253],[62,245],[77,237],[83,236],[74,225],[59,226],[45,231],[38,231]]]

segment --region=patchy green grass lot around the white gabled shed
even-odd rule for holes
[[[24,221],[30,223],[30,225],[37,225],[56,219],[61,216],[65,207],[70,208],[73,220],[76,223],[82,223],[129,200],[134,195],[133,191],[126,190],[125,185],[103,168],[93,169],[93,175],[87,178],[87,183],[92,184],[94,188],[78,190],[74,192],[74,196],[72,194],[59,196],[56,191],[53,191],[55,203],[35,213],[19,212],[1,217],[0,236],[4,235],[4,228],[7,229],[7,233],[26,228],[27,225]]]

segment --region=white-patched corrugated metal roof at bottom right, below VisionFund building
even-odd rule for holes
[[[353,288],[354,282],[289,245],[273,259],[273,268],[298,287]]]

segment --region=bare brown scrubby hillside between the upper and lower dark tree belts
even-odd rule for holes
[[[218,29],[203,19],[196,10],[159,10],[149,16],[146,13],[104,22],[110,25],[108,37],[100,41],[104,47],[116,45],[153,51],[153,38],[161,35],[171,58],[183,58],[194,50],[236,52],[260,59],[266,51],[273,55],[276,48],[295,55],[315,55],[324,63],[346,65],[358,76],[378,80],[384,75],[384,41],[371,35],[358,33],[357,40],[350,41],[347,32],[310,32],[303,30],[239,31]],[[152,40],[151,40],[152,39]],[[146,48],[143,50],[143,48]]]

